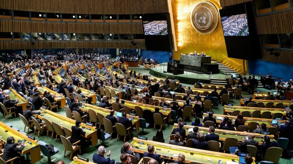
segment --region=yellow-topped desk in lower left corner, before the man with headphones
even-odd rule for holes
[[[22,134],[19,131],[16,131],[15,129],[7,126],[6,124],[4,124],[3,122],[0,121],[0,130],[1,130],[1,138],[0,138],[0,142],[1,143],[5,143],[7,141],[8,137],[13,136],[15,139],[15,142],[17,142],[18,140],[23,140],[25,139],[25,147],[24,149],[20,152],[22,155],[26,154],[28,157],[28,154],[30,154],[30,158],[31,158],[31,163],[36,163],[39,160],[41,160],[41,153],[40,153],[40,145],[37,143],[37,140],[32,140],[30,138],[28,138],[27,135]],[[5,132],[5,130],[8,130],[7,132]],[[32,142],[32,144],[29,144],[28,141]]]

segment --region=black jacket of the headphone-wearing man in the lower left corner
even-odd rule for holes
[[[24,145],[22,145],[20,148],[17,148],[16,146],[18,143],[5,143],[4,144],[4,152],[2,159],[4,161],[10,160],[11,158],[17,157],[18,153],[23,150]]]

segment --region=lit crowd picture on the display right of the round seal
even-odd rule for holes
[[[248,36],[247,15],[239,14],[221,17],[225,36]]]

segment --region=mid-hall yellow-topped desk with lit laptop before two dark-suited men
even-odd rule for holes
[[[102,107],[98,107],[98,106],[95,106],[95,105],[91,105],[91,104],[86,104],[86,103],[83,103],[82,102],[82,106],[79,107],[83,112],[86,112],[88,113],[88,110],[89,109],[92,109],[94,110],[96,113],[100,113],[102,115],[104,115],[105,117],[107,115],[110,115],[110,110],[109,109],[105,109],[105,108],[102,108]],[[116,111],[114,113],[114,116],[116,115]],[[139,131],[139,118],[138,116],[132,116],[132,115],[129,115],[131,118],[133,118],[132,120],[132,125],[135,126],[135,132],[137,133]],[[112,125],[114,126],[114,125]]]

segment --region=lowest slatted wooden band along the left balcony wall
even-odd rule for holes
[[[146,49],[145,42],[130,41],[0,41],[1,49],[50,49],[50,48],[128,48]]]

